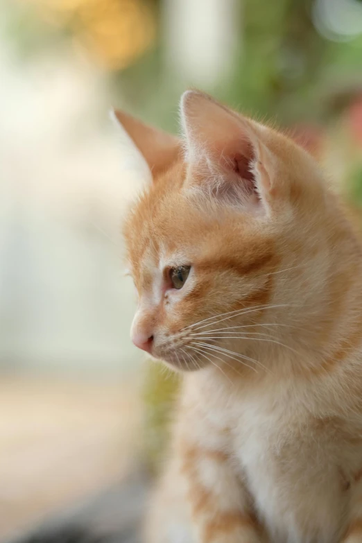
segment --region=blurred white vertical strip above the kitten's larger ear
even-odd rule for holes
[[[230,76],[241,32],[241,0],[164,0],[169,70],[187,85],[213,87]]]

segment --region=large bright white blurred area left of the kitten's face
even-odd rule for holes
[[[102,74],[67,50],[19,65],[3,45],[0,365],[137,365],[119,234],[135,151],[108,123]]]

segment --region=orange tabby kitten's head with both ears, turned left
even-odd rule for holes
[[[182,96],[180,139],[116,115],[153,173],[124,228],[135,345],[196,370],[312,334],[331,216],[313,159],[201,92]]]

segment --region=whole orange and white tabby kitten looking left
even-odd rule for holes
[[[362,542],[362,252],[313,158],[196,91],[182,139],[117,112],[132,340],[184,372],[152,543]]]

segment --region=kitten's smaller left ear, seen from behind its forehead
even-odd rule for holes
[[[182,146],[177,137],[148,126],[121,110],[114,110],[113,116],[143,155],[153,180],[166,171],[180,155]]]

